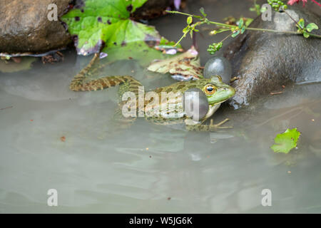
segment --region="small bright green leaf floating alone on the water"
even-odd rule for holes
[[[301,133],[297,131],[297,128],[287,129],[285,133],[278,134],[274,141],[275,145],[271,146],[274,152],[288,153],[290,150],[297,146],[297,140],[300,138]]]

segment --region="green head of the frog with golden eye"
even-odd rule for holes
[[[208,83],[203,86],[203,92],[208,97],[209,105],[217,105],[233,97],[235,89],[223,83],[220,76],[212,76],[208,79]]]

